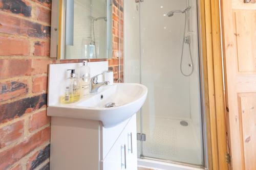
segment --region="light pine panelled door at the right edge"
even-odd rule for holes
[[[230,169],[256,169],[256,2],[221,0]]]

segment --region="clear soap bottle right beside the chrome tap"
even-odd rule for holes
[[[81,96],[86,96],[90,93],[90,66],[87,61],[82,61],[80,67],[80,82],[81,82]]]

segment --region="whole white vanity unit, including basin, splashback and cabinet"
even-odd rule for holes
[[[108,62],[91,62],[91,76],[108,70]],[[47,115],[51,116],[51,170],[137,169],[136,112],[147,88],[136,83],[103,86],[72,104],[60,104],[67,69],[81,63],[51,64]],[[62,90],[62,91],[61,91]],[[114,103],[114,107],[106,107]],[[104,126],[103,126],[104,125]]]

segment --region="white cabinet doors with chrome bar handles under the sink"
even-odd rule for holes
[[[137,169],[136,115],[123,129],[113,148],[103,159],[103,169]]]

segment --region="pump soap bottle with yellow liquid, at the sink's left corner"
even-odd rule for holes
[[[76,77],[74,69],[71,70],[69,78],[65,82],[65,94],[61,97],[61,103],[69,104],[79,101],[80,99],[80,82]]]

